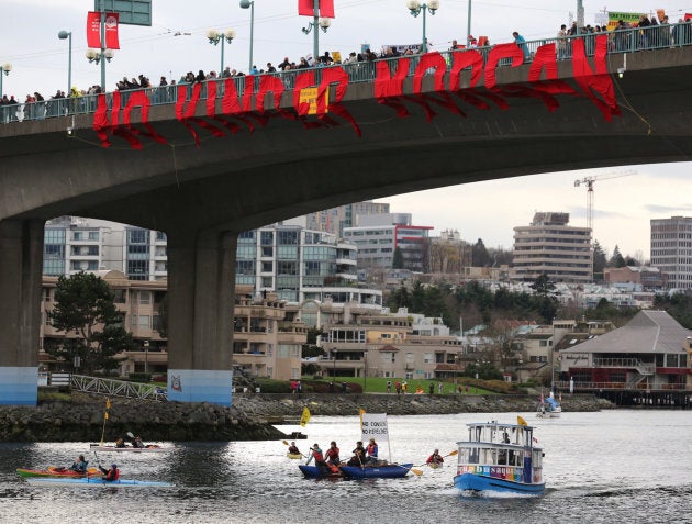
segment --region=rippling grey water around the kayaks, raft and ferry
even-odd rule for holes
[[[176,444],[169,454],[120,456],[123,478],[165,480],[174,488],[32,487],[18,467],[69,465],[88,443],[0,444],[0,522],[146,523],[668,523],[692,522],[692,413],[604,411],[537,420],[545,448],[543,497],[460,497],[456,457],[421,477],[368,481],[306,480],[280,441]],[[390,416],[391,457],[423,464],[446,455],[466,423],[515,414]],[[281,427],[281,426],[280,426]],[[290,432],[295,426],[283,426]],[[323,449],[337,441],[348,457],[358,417],[313,416],[299,441]],[[387,443],[380,456],[389,455]],[[96,464],[91,453],[90,466]]]

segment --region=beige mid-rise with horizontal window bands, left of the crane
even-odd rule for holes
[[[553,282],[593,280],[591,230],[568,224],[569,213],[538,212],[531,225],[514,227],[511,278],[535,280],[546,274]]]

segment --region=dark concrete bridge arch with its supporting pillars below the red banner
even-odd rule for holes
[[[169,381],[178,374],[178,400],[225,403],[216,393],[186,388],[194,383],[200,391],[204,383],[230,380],[238,232],[409,191],[689,160],[692,65],[681,62],[692,58],[661,53],[651,59],[669,67],[637,69],[630,58],[624,78],[613,78],[620,114],[612,120],[566,79],[576,93],[549,99],[535,89],[514,89],[515,96],[506,90],[499,98],[483,89],[447,96],[428,91],[398,100],[406,116],[378,103],[372,85],[355,85],[343,101],[353,120],[331,113],[328,125],[276,112],[266,121],[221,116],[183,125],[171,107],[154,107],[149,126],[135,124],[137,133],[131,135],[141,149],[114,135],[111,147],[101,147],[91,115],[8,124],[13,134],[0,126],[0,242],[18,254],[3,256],[0,264],[0,330],[10,334],[0,347],[0,368],[37,365],[41,264],[35,246],[42,233],[35,224],[63,214],[99,218],[167,233],[169,367],[175,371]],[[503,79],[499,71],[498,78],[507,88],[521,75],[510,70]],[[409,82],[404,92],[411,92]],[[290,103],[287,93],[282,105]],[[152,132],[166,143],[156,142]],[[36,335],[27,335],[32,330]],[[169,389],[176,391],[176,383]],[[8,399],[0,390],[0,403]]]

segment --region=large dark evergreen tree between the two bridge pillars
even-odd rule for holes
[[[49,346],[46,352],[57,358],[78,356],[89,375],[115,369],[120,359],[113,358],[114,355],[133,347],[132,335],[123,327],[123,316],[115,308],[111,289],[93,274],[81,271],[58,278],[49,321],[57,331],[78,336]]]

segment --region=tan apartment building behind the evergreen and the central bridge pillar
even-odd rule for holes
[[[167,292],[166,280],[131,280],[122,271],[96,271],[110,286],[123,325],[132,334],[135,348],[116,356],[122,359],[118,374],[165,375],[168,369],[168,342],[160,336],[160,308]],[[55,361],[45,350],[77,333],[56,331],[49,324],[55,303],[57,277],[43,278],[40,363],[52,370],[79,372],[76,363]],[[301,348],[308,339],[308,327],[287,315],[286,302],[276,293],[257,297],[250,286],[238,286],[235,292],[233,365],[252,377],[277,380],[300,378]]]

